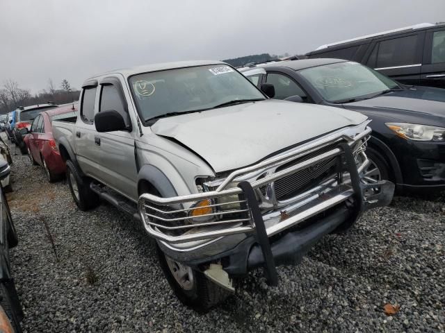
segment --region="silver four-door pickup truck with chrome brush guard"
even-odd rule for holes
[[[254,268],[276,285],[276,266],[392,198],[364,181],[366,116],[273,94],[223,62],[149,65],[86,80],[78,117],[53,122],[76,205],[140,221],[192,307]]]

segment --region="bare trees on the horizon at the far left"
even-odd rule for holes
[[[79,99],[79,93],[79,90],[71,87],[68,80],[64,79],[60,83],[60,88],[56,88],[50,78],[46,89],[42,89],[38,94],[31,94],[29,89],[19,87],[17,81],[9,78],[0,87],[0,114],[11,112],[17,106],[43,104],[49,101],[55,104],[71,103]]]

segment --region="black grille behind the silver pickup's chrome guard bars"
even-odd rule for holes
[[[313,153],[309,153],[303,157],[300,157],[297,160],[293,160],[289,163],[283,164],[282,166],[277,168],[277,171],[281,171],[293,166],[294,164],[304,162],[305,160],[309,160],[312,157],[315,157],[322,153],[326,153],[327,151],[331,151],[332,149],[336,148],[336,146],[337,144],[326,146],[319,149],[318,151],[314,151]],[[276,180],[274,185],[275,197],[279,201],[287,200],[293,198],[293,196],[297,196],[302,191],[318,185],[320,182],[322,182],[322,180],[324,180],[328,176],[333,176],[336,173],[337,161],[338,157],[332,157],[328,160],[324,160],[320,163],[314,164],[307,169],[302,169],[300,171],[297,171],[296,173],[292,173],[289,176]]]

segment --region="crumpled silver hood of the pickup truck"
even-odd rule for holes
[[[152,131],[187,146],[219,173],[366,119],[341,108],[266,100],[159,119]]]

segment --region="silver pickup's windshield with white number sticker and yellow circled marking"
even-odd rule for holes
[[[247,78],[223,64],[138,74],[129,84],[144,121],[266,99]]]

